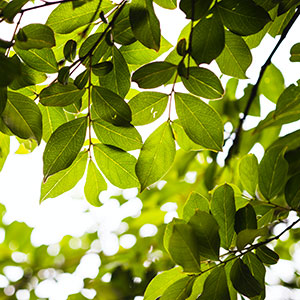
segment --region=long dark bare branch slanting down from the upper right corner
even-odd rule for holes
[[[267,67],[271,64],[271,60],[272,60],[274,54],[278,50],[278,48],[281,45],[281,43],[283,42],[283,40],[286,38],[288,32],[292,28],[293,24],[295,23],[295,21],[296,21],[296,19],[298,18],[299,15],[300,15],[300,6],[298,6],[296,8],[295,14],[293,15],[293,17],[291,18],[291,20],[289,21],[289,23],[284,28],[279,41],[275,45],[273,51],[271,52],[270,56],[268,57],[268,59],[266,60],[266,62],[264,63],[264,65],[261,67],[261,70],[260,70],[260,73],[259,73],[259,77],[258,77],[258,79],[257,79],[254,87],[251,90],[251,94],[250,94],[250,97],[248,99],[248,102],[247,102],[247,105],[245,107],[245,110],[243,112],[243,116],[240,118],[238,128],[235,130],[235,137],[233,138],[232,146],[229,148],[228,155],[227,155],[227,157],[225,159],[225,163],[226,164],[229,162],[229,160],[231,159],[231,157],[238,150],[238,146],[239,146],[239,142],[240,142],[240,136],[241,136],[243,124],[245,122],[246,117],[249,114],[249,110],[250,110],[251,104],[253,103],[253,101],[254,101],[254,99],[255,99],[255,97],[257,95],[257,90],[258,90],[259,84],[261,82],[261,79],[262,79],[262,77],[263,77],[263,75],[264,75]]]

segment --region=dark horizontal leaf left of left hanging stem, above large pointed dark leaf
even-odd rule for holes
[[[40,93],[40,103],[45,106],[67,106],[81,99],[85,90],[79,90],[73,83],[55,82]]]

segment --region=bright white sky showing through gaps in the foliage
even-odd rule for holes
[[[30,4],[29,4],[30,5]],[[184,15],[181,12],[174,12],[164,10],[155,6],[156,12],[161,22],[162,34],[173,44],[176,44],[177,38],[181,29],[186,24]],[[35,23],[44,23],[48,10],[44,10],[44,13],[39,11],[36,13],[25,14],[21,25],[24,26],[28,22],[34,20]],[[1,38],[9,40],[12,35],[14,26],[0,24]],[[282,71],[286,86],[291,83],[295,83],[300,78],[299,63],[289,62],[289,51],[291,46],[299,42],[299,30],[300,20],[298,20],[282,46],[274,56],[273,63]],[[5,33],[5,36],[3,36]],[[254,63],[247,71],[247,75],[251,78],[250,82],[254,83],[258,77],[259,68],[265,62],[269,56],[274,43],[277,41],[271,37],[266,38],[261,48],[263,50],[254,49]],[[212,65],[215,69],[215,66]],[[245,81],[245,86],[249,81]],[[169,89],[168,89],[169,91]],[[240,91],[241,93],[241,91]],[[268,100],[264,100],[263,103],[263,117],[274,109],[274,104]],[[258,122],[258,118],[248,118],[249,122],[247,126],[255,126]],[[284,126],[285,132],[288,132],[293,128],[295,130],[295,124]],[[299,123],[298,125],[299,126]],[[0,173],[0,202],[5,204],[7,208],[7,214],[5,215],[5,222],[10,223],[13,220],[24,221],[29,226],[34,227],[32,234],[32,242],[34,245],[47,244],[52,245],[49,251],[57,251],[55,244],[66,234],[70,234],[74,237],[81,236],[87,230],[98,229],[99,236],[101,236],[101,242],[95,243],[94,250],[99,252],[104,251],[105,254],[111,255],[118,251],[118,239],[117,236],[112,233],[113,231],[122,231],[126,229],[126,224],[121,223],[121,219],[126,216],[138,216],[142,208],[141,201],[136,197],[136,190],[131,189],[124,192],[127,199],[130,199],[122,206],[119,205],[117,200],[109,199],[114,193],[119,193],[119,190],[110,187],[108,192],[101,193],[100,199],[104,205],[100,208],[91,207],[83,196],[83,182],[76,186],[72,191],[63,194],[55,199],[47,199],[41,205],[39,204],[40,184],[42,181],[42,152],[43,146],[34,150],[33,153],[27,155],[18,155],[14,152],[18,148],[18,143],[11,139],[11,154],[9,155],[5,166]],[[258,147],[256,154],[261,157],[262,151]],[[87,211],[87,209],[89,209]],[[114,212],[112,214],[112,211]],[[171,207],[169,216],[166,219],[170,220],[171,216],[176,215],[174,213],[174,206]],[[114,217],[112,217],[114,216]],[[101,229],[99,229],[101,228]],[[150,229],[151,232],[152,229]],[[148,231],[149,232],[149,231]],[[147,230],[146,233],[147,234]],[[1,242],[1,241],[0,241]],[[134,243],[133,237],[127,237],[121,241],[124,247],[132,245]],[[52,250],[51,250],[52,249]],[[296,253],[300,254],[300,248],[296,249]],[[299,256],[299,255],[298,255]],[[91,261],[93,263],[91,264]],[[43,293],[45,291],[52,291],[50,297],[51,300],[66,299],[66,289],[71,289],[74,286],[74,280],[78,281],[77,288],[82,285],[82,278],[86,275],[96,276],[97,268],[101,262],[97,255],[90,256],[80,265],[80,268],[76,270],[76,276],[74,274],[66,275],[61,278],[59,284],[54,286],[53,282],[47,282],[45,287],[41,289],[40,297],[45,297]],[[88,268],[88,265],[95,265],[94,269]],[[291,273],[295,266],[300,270],[300,261],[297,259],[296,265],[292,268],[287,268],[286,265],[277,264],[272,267],[272,272],[268,272],[268,281],[272,284],[278,283],[278,277],[274,274],[281,274],[281,276],[291,276]],[[284,270],[287,270],[285,272]],[[285,274],[286,273],[286,274]],[[75,276],[75,277],[74,277]],[[70,285],[71,283],[71,285]],[[68,285],[69,284],[69,285]],[[66,288],[68,287],[68,288]],[[300,299],[300,295],[289,295],[287,297],[286,289],[282,287],[272,288],[273,292],[269,292],[267,299]],[[285,293],[282,296],[282,291]],[[277,297],[277,298],[276,298]],[[24,298],[26,299],[26,298]]]

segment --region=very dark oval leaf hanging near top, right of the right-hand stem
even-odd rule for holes
[[[224,28],[217,16],[202,18],[194,27],[191,55],[198,65],[211,63],[221,54],[224,45]]]

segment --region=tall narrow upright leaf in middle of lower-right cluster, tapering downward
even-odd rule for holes
[[[211,212],[220,226],[221,247],[229,249],[234,235],[235,201],[234,191],[228,184],[214,190]]]

